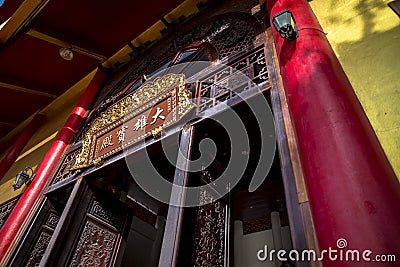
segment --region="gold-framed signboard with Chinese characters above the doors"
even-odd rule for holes
[[[119,100],[91,124],[74,169],[101,162],[163,128],[178,122],[194,105],[183,74],[167,74],[147,82]]]

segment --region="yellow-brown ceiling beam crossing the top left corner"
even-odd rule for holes
[[[4,44],[26,27],[50,0],[25,0],[15,13],[2,25],[0,41]]]

